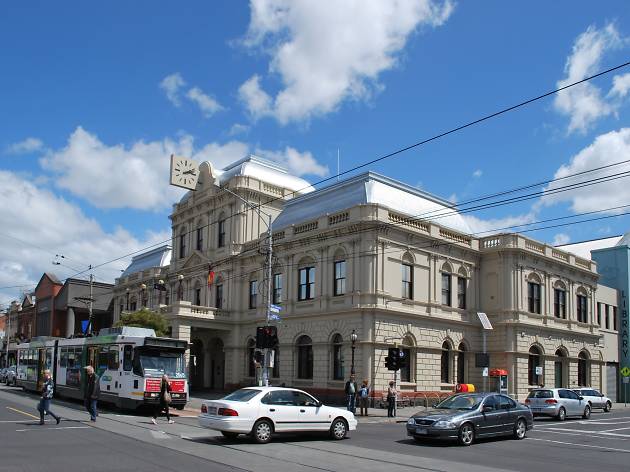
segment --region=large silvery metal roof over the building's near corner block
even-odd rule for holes
[[[366,172],[289,200],[274,221],[274,230],[365,204],[382,205],[414,217],[426,215],[427,219],[439,225],[472,233],[451,202],[374,172]],[[444,216],[438,217],[442,214]]]

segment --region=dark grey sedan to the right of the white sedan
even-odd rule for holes
[[[416,441],[456,439],[462,446],[470,446],[477,438],[490,436],[523,439],[534,427],[534,418],[529,408],[507,395],[463,393],[416,413],[406,427],[407,434]]]

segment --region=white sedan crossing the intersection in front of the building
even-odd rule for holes
[[[206,400],[198,418],[201,426],[227,438],[250,434],[261,444],[274,433],[328,431],[333,439],[343,439],[357,428],[351,412],[325,406],[302,390],[280,387],[242,388],[221,400]]]

